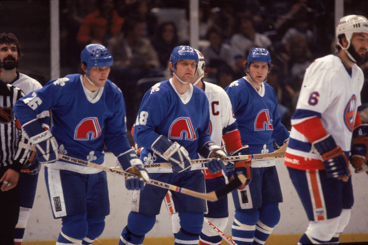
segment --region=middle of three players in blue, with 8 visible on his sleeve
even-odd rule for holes
[[[189,46],[177,46],[170,56],[173,76],[148,90],[138,111],[134,126],[134,141],[142,146],[144,163],[169,161],[173,166],[149,170],[152,179],[175,184],[190,190],[205,192],[205,179],[200,169],[191,169],[190,159],[198,152],[208,157],[225,157],[226,153],[209,137],[209,104],[206,94],[191,85],[196,72],[198,55]],[[212,173],[224,167],[220,158],[208,163]],[[167,190],[147,185],[133,192],[132,210],[119,244],[142,244],[160,212]],[[206,201],[181,193],[172,193],[178,204],[180,230],[175,244],[198,244],[202,230]]]

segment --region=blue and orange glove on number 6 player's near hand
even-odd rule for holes
[[[349,161],[330,134],[314,141],[312,149],[321,157],[327,177],[341,179],[344,182],[348,181],[350,176]]]

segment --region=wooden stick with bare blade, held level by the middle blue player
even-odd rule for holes
[[[224,161],[241,161],[251,159],[252,161],[262,161],[262,160],[272,160],[272,159],[280,159],[285,158],[285,152],[287,148],[287,143],[280,147],[277,151],[272,153],[263,153],[263,154],[253,154],[253,155],[239,155],[239,156],[228,156],[223,158]],[[212,158],[205,159],[194,159],[191,160],[192,164],[202,164],[208,163]],[[169,162],[160,162],[160,163],[147,163],[144,165],[145,168],[162,168],[162,167],[172,167]]]

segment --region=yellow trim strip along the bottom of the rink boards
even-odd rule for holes
[[[271,234],[265,245],[295,245],[302,234]],[[93,245],[116,245],[119,238],[100,238],[93,242]],[[24,241],[22,245],[55,245],[55,240],[51,241]],[[340,242],[368,242],[368,233],[348,233],[340,235]],[[173,245],[173,237],[147,237],[143,245]],[[222,241],[221,245],[228,245]]]

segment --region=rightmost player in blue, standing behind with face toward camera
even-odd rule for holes
[[[254,48],[244,63],[246,76],[232,82],[229,95],[241,135],[249,153],[271,153],[273,142],[283,145],[289,132],[280,122],[275,91],[265,83],[271,68],[267,49]],[[253,161],[252,181],[232,192],[235,219],[231,229],[239,245],[264,244],[280,220],[282,193],[275,160]]]

